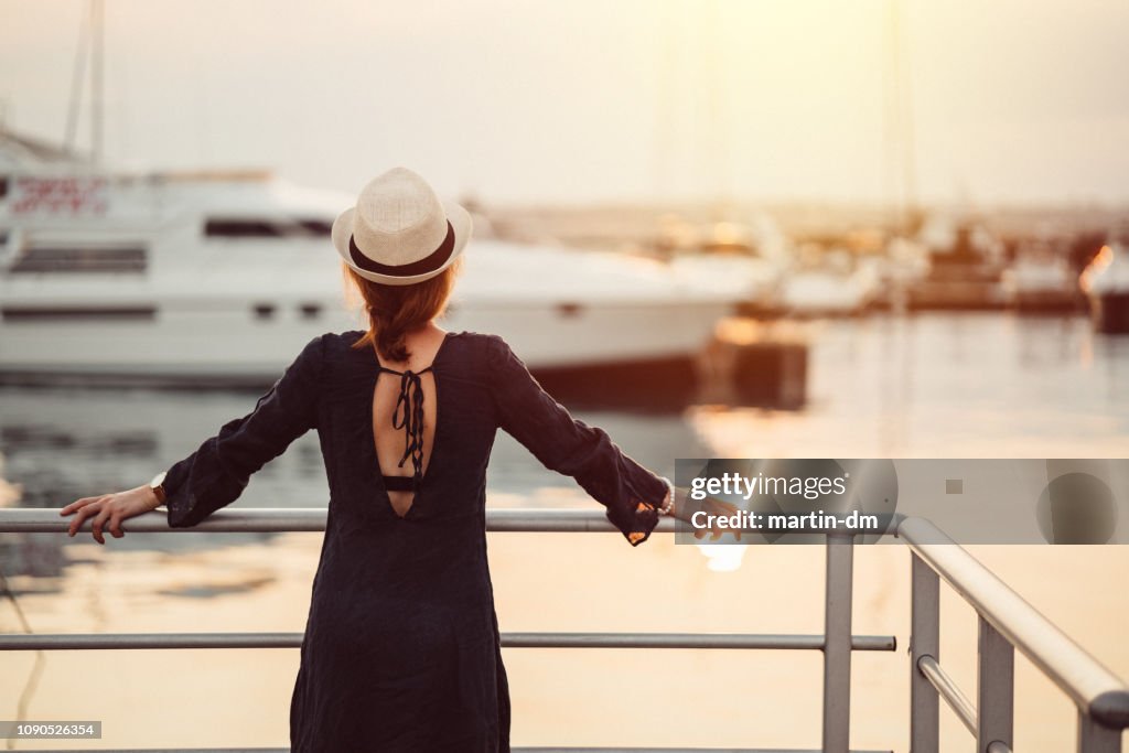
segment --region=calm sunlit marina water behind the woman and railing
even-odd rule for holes
[[[695,456],[1129,452],[1129,339],[1094,334],[1083,317],[875,315],[813,322],[805,332],[808,384],[799,410],[695,403],[592,411],[583,400],[571,408],[665,474],[674,458]],[[257,394],[5,387],[3,505],[58,508],[143,483],[248,412]],[[502,434],[488,480],[490,507],[597,505]],[[235,505],[318,507],[326,496],[310,432],[253,476]],[[12,595],[0,602],[0,630],[304,628],[320,534],[106,541],[103,548],[89,534],[0,535]],[[611,535],[491,533],[488,541],[502,632],[822,631],[820,548],[724,548],[717,557],[664,535],[638,549]],[[1127,548],[970,549],[1111,669],[1129,675],[1129,594],[1112,587],[1129,572]],[[909,554],[863,548],[856,559],[855,631],[895,634],[899,650],[856,655],[852,742],[904,750]],[[974,615],[949,595],[942,612],[942,654],[953,657],[946,666],[952,662],[960,684],[974,688]],[[504,650],[515,744],[817,744],[817,653]],[[14,655],[0,673],[0,717],[102,719],[102,747],[285,745],[297,660],[286,649]],[[1023,659],[1016,688],[1016,748],[1069,750],[1069,701]],[[968,744],[953,715],[942,720],[942,750]]]

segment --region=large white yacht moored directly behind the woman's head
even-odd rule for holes
[[[352,196],[263,173],[122,174],[0,131],[0,376],[262,382],[365,326],[329,230]],[[697,353],[732,297],[660,262],[475,238],[444,326],[533,369]]]

